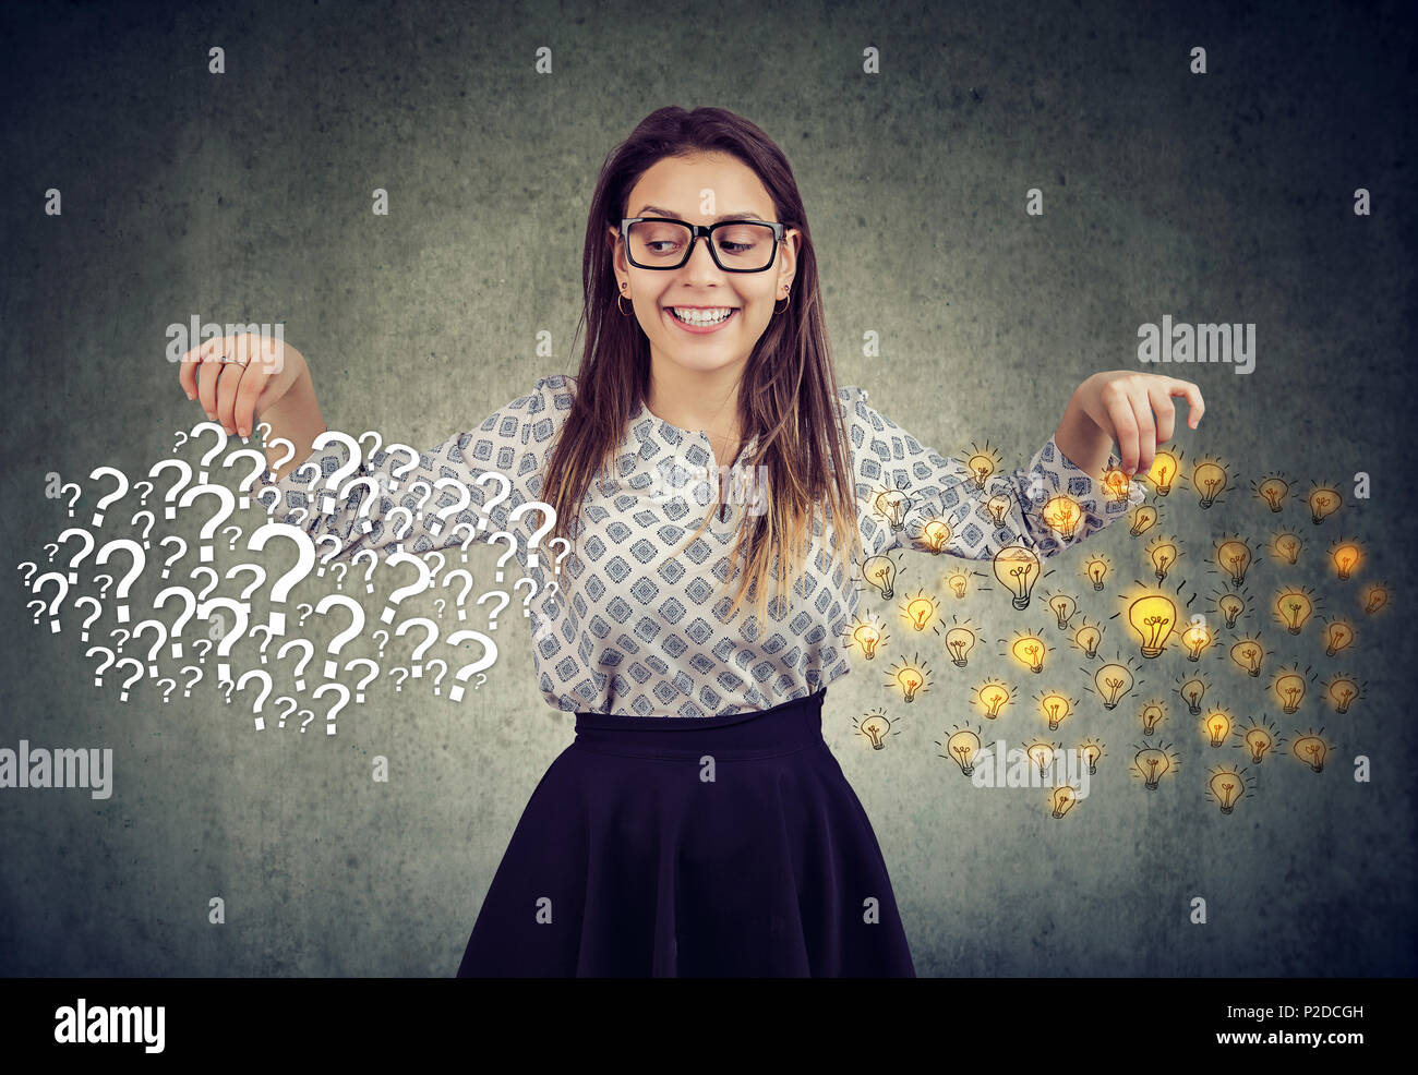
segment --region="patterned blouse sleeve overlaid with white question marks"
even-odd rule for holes
[[[328,533],[337,536],[342,545],[335,559],[347,560],[362,549],[373,549],[383,559],[400,547],[408,553],[425,553],[461,546],[468,532],[457,530],[458,523],[471,522],[476,528],[478,509],[496,498],[502,488],[499,482],[479,485],[474,479],[484,474],[502,474],[512,484],[510,492],[488,513],[491,525],[478,528],[474,536],[476,542],[486,542],[498,530],[512,529],[508,526],[512,511],[537,499],[552,440],[563,411],[571,407],[571,389],[570,377],[542,377],[530,393],[493,411],[478,428],[454,434],[438,447],[420,452],[413,469],[407,469],[407,451],[380,450],[340,479],[340,488],[349,488],[343,498],[339,498],[339,489],[326,486],[328,477],[349,462],[347,451],[337,445],[312,452],[305,464],[279,482],[271,481],[264,471],[254,492],[261,488],[281,492],[271,513],[272,522],[298,526],[312,539]],[[319,467],[313,485],[308,464]],[[350,485],[360,478],[373,478],[376,484],[367,512],[363,509],[370,499],[369,484]],[[451,478],[455,484],[435,485],[441,478]],[[414,488],[420,481],[428,488]],[[440,519],[438,511],[457,503],[464,488],[468,505],[457,515]],[[303,515],[301,509],[305,509]],[[533,523],[540,523],[540,516],[532,518]],[[527,519],[526,515],[519,519],[523,529]]]

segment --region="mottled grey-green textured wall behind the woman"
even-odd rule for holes
[[[1061,737],[1095,735],[1107,754],[1064,821],[1041,791],[976,790],[940,757],[951,723],[978,723],[968,689],[986,674],[1034,689],[994,640],[1037,627],[1059,668],[1086,664],[1041,604],[1015,614],[998,590],[963,603],[940,591],[947,616],[988,635],[968,672],[939,638],[917,645],[898,627],[882,667],[832,686],[827,735],[881,837],[919,971],[1412,973],[1404,10],[6,6],[6,560],[45,564],[44,545],[72,525],[44,498],[47,474],[85,485],[72,520],[84,525],[94,467],[138,477],[201,420],[163,356],[164,326],[193,315],[284,322],[332,428],[423,447],[537,376],[574,372],[580,241],[605,153],[654,108],[722,105],[794,165],[839,383],[871,389],[923,442],[951,452],[988,438],[1021,465],[1079,381],[1137,366],[1140,323],[1254,322],[1248,376],[1161,367],[1207,399],[1201,428],[1178,421],[1176,442],[1218,454],[1239,481],[1208,511],[1185,488],[1164,502],[1177,573],[1198,601],[1214,597],[1212,540],[1265,540],[1272,519],[1248,486],[1278,468],[1297,495],[1310,481],[1346,492],[1323,528],[1288,508],[1305,559],[1283,570],[1262,553],[1249,593],[1265,603],[1280,581],[1313,586],[1322,611],[1357,613],[1354,650],[1326,658],[1317,631],[1292,640],[1263,613],[1252,627],[1275,651],[1268,668],[1353,671],[1368,694],[1343,718],[1313,698],[1286,718],[1265,678],[1210,664],[1238,712],[1265,712],[1288,735],[1323,725],[1334,745],[1319,776],[1268,760],[1231,817],[1205,797],[1204,773],[1241,752],[1205,747],[1173,695],[1161,737],[1183,767],[1144,791],[1127,772],[1137,708],[1105,712],[1081,694],[1082,671],[1068,672],[1083,705]],[[213,45],[224,75],[207,72]],[[533,71],[543,45],[549,75]],[[879,75],[862,72],[868,45]],[[1197,45],[1205,75],[1188,72]],[[44,213],[51,187],[58,217]],[[387,217],[370,213],[376,187],[390,191]],[[1024,211],[1031,187],[1042,217]],[[1371,216],[1354,214],[1357,187]],[[533,356],[539,329],[554,359]],[[879,359],[862,355],[868,330]],[[1356,472],[1373,477],[1367,502],[1350,495]],[[163,532],[194,540],[197,522],[159,520],[153,538]],[[1339,533],[1370,557],[1351,583],[1327,564]],[[1049,562],[1041,586],[1071,589],[1100,620],[1115,590],[1085,590],[1090,552],[1122,581],[1150,573],[1124,525]],[[498,553],[472,556],[481,579]],[[899,589],[932,586],[937,567],[908,555]],[[1394,608],[1364,617],[1358,587],[1380,579]],[[135,586],[135,606],[155,589]],[[77,617],[51,634],[31,624],[28,596],[16,573],[0,620],[0,746],[111,746],[116,773],[105,801],[0,791],[4,973],[452,974],[523,804],[571,737],[571,715],[536,689],[525,633],[501,633],[498,667],[462,705],[381,686],[345,711],[336,739],[262,735],[210,678],[167,703],[150,681],[128,702],[112,678],[96,689]],[[862,610],[892,604],[868,596]],[[1126,627],[1109,623],[1123,642]],[[912,648],[933,658],[934,686],[906,706],[879,684]],[[1139,696],[1166,695],[1185,662],[1159,665]],[[1031,705],[991,730],[1011,745],[1041,730]],[[875,706],[902,718],[883,752],[852,726]],[[387,784],[370,780],[376,754],[391,760]],[[1360,754],[1370,783],[1353,780]],[[213,896],[224,926],[207,923]],[[1195,896],[1204,926],[1188,922]]]

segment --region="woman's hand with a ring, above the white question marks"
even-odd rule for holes
[[[305,373],[305,356],[275,336],[213,336],[182,356],[177,380],[189,400],[227,434],[250,437]]]

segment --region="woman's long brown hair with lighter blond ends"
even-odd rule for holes
[[[722,108],[692,112],[661,108],[607,155],[591,199],[581,255],[586,299],[577,335],[583,326],[588,326],[588,332],[576,374],[574,404],[547,459],[540,499],[556,509],[549,538],[570,536],[574,556],[580,526],[573,529],[573,518],[579,520],[581,501],[593,481],[603,482],[607,492],[614,489],[618,475],[610,477],[610,464],[631,416],[649,391],[649,339],[634,316],[621,316],[615,309],[607,227],[620,231],[630,191],[652,165],[668,156],[700,152],[729,153],[753,169],[773,199],[784,231],[797,228],[801,233],[787,309],[774,313],[759,338],[739,389],[743,441],[759,437],[756,452],[744,462],[766,468],[754,471],[766,475],[759,489],[766,509],[760,515],[744,512],[740,516],[753,522],[740,526],[735,542],[733,574],[725,581],[737,579],[739,586],[722,618],[730,621],[746,597],[752,597],[763,628],[767,625],[766,579],[776,573],[777,597],[783,601],[777,616],[783,617],[791,603],[786,594],[791,593],[794,576],[811,550],[818,505],[825,509],[824,542],[832,535],[832,547],[844,557],[844,577],[851,576],[852,563],[861,556],[861,535],[822,322],[817,257],[803,199],[783,150],[747,119]],[[576,346],[574,336],[571,346]],[[706,515],[700,520],[685,546],[699,538],[708,519]],[[844,520],[841,528],[832,526],[837,519]],[[844,532],[847,542],[841,540]]]

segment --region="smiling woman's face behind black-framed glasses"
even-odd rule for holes
[[[631,190],[625,211],[627,217],[672,217],[705,225],[736,214],[777,220],[773,199],[753,169],[726,153],[659,160]],[[801,235],[795,228],[787,230],[764,272],[720,269],[708,240],[696,240],[689,261],[678,269],[638,268],[625,257],[620,230],[611,230],[608,238],[614,248],[617,291],[624,299],[620,306],[634,305],[640,326],[649,338],[652,369],[669,363],[712,373],[747,363],[773,318],[773,303],[780,302],[793,284]],[[668,244],[658,248],[664,245]],[[700,321],[722,311],[730,313],[716,325],[685,325],[675,315],[685,308],[696,309]]]

